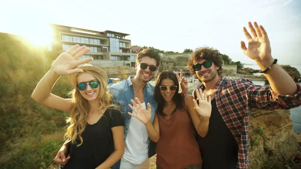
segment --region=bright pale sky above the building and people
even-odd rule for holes
[[[2,1],[0,32],[43,34],[37,25],[60,24],[130,34],[132,45],[183,52],[217,48],[254,64],[240,50],[242,27],[256,21],[270,38],[279,64],[301,64],[301,1]],[[6,16],[6,17],[4,17]],[[30,33],[29,33],[30,32]],[[40,33],[41,32],[41,33]]]

